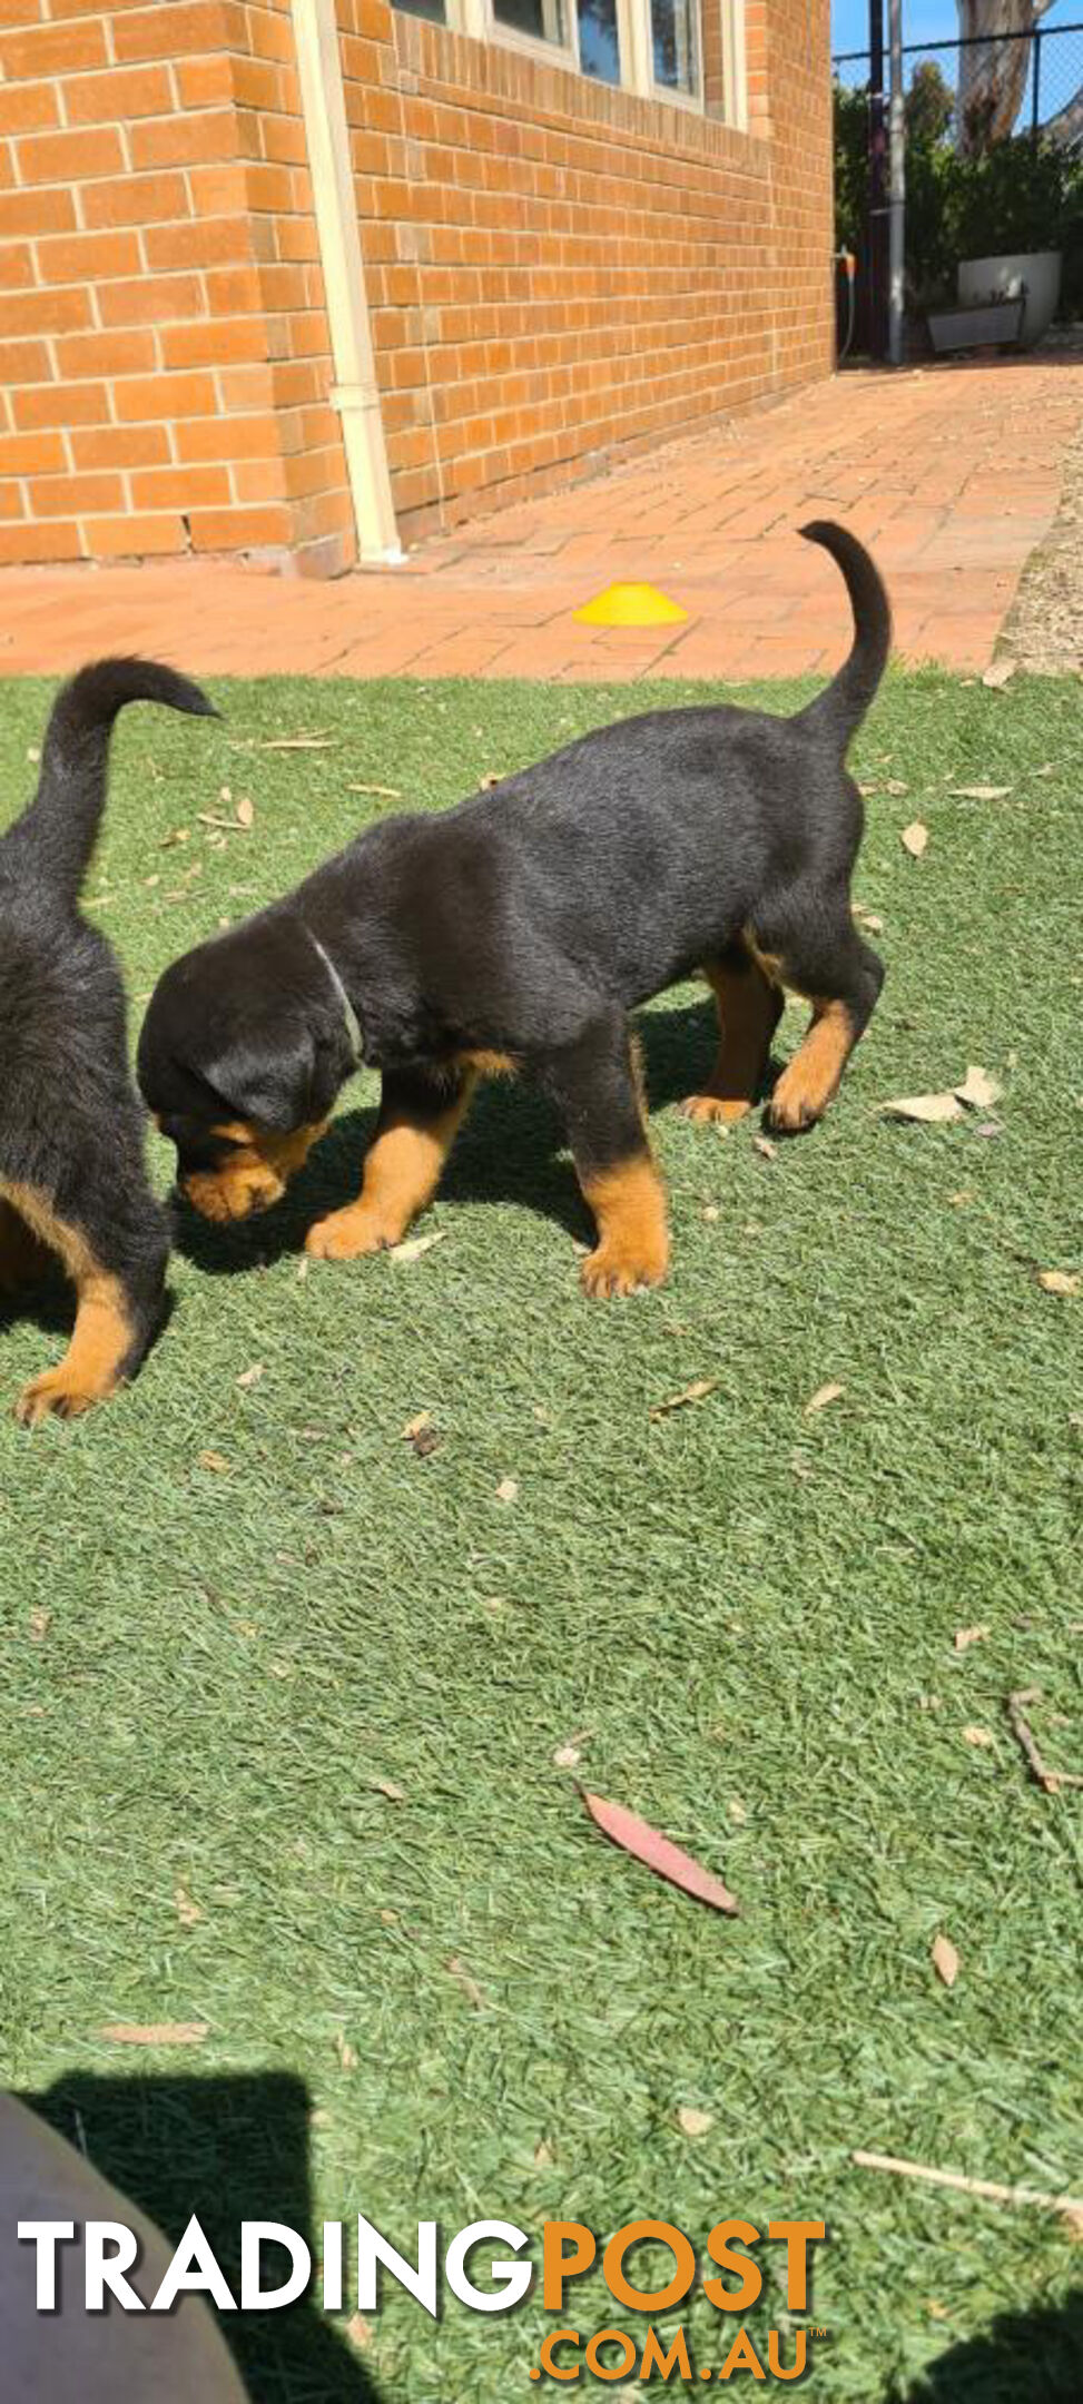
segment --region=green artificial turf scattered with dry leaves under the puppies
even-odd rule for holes
[[[5,688],[7,810],[46,700]],[[221,728],[118,731],[89,894],[137,1000],[392,808],[351,784],[438,808],[655,695],[219,700]],[[332,743],[260,750],[298,731]],[[1076,2392],[1061,2226],[850,2152],[1083,2188],[1078,1798],[1028,1781],[1004,1712],[1042,1688],[1042,1743],[1083,1767],[1083,1298],[1035,1274],[1081,1269],[1078,764],[1076,680],[888,680],[857,750],[876,791],[854,887],[888,986],[828,1123],[773,1161],[751,1125],[691,1127],[703,988],[643,1014],[659,1293],[580,1301],[587,1224],[522,1089],[474,1108],[424,1221],[438,1248],[301,1279],[306,1216],[356,1180],[363,1079],[286,1212],[185,1231],[173,1322],[125,1399],[34,1438],[2,1423],[2,2077],[173,2226],[245,2197],[286,2221],[363,2209],[400,2243],[419,2216],[655,2214],[703,2245],[727,2214],[821,2214],[816,2399],[917,2404],[934,2361],[951,2404]],[[217,849],[197,813],[238,796],[255,827]],[[987,1120],[878,1115],[967,1063],[1004,1084]],[[5,1325],[5,1392],[60,1341],[58,1320]],[[710,1397],[655,1421],[693,1380]],[[806,1416],[828,1380],[842,1399]],[[428,1459],[402,1438],[419,1411]],[[606,1849],[554,1767],[575,1736],[580,1777],[720,1868],[739,1921]],[[159,2019],[209,2036],[132,2055],[96,2034]],[[686,2137],[681,2106],[712,2128]],[[773,2272],[768,2305],[753,2329],[777,2320]],[[999,2315],[1042,2317],[1016,2351]],[[575,2325],[606,2320],[592,2281]],[[681,2320],[720,2363],[703,2298]],[[510,2404],[551,2392],[527,2382],[544,2327],[537,2296],[431,2327],[392,2293],[359,2356],[282,2315],[245,2361],[260,2404]]]

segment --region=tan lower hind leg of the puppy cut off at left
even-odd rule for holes
[[[87,1236],[58,1219],[46,1195],[31,1185],[5,1185],[2,1202],[12,1204],[31,1236],[53,1252],[77,1293],[75,1329],[65,1358],[46,1368],[41,1377],[19,1394],[14,1416],[24,1428],[36,1428],[51,1411],[58,1418],[77,1418],[91,1402],[116,1394],[123,1363],[135,1344],[135,1327],[128,1315],[125,1291],[118,1277],[94,1257]]]

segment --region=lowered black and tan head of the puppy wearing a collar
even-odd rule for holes
[[[354,1065],[327,964],[289,914],[176,959],[152,993],[137,1055],[147,1108],[176,1144],[180,1192],[219,1224],[282,1200]]]

